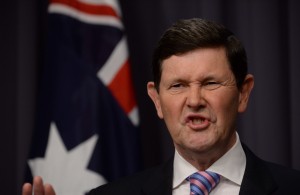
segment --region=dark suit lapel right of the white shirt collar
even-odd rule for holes
[[[275,192],[277,185],[265,163],[243,145],[246,154],[246,170],[240,195],[267,195]]]

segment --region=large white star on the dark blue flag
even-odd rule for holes
[[[39,175],[50,183],[59,195],[83,195],[106,180],[97,172],[87,169],[98,135],[67,151],[57,127],[51,123],[44,158],[28,160],[32,175]]]

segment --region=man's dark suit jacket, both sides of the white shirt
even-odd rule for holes
[[[300,195],[300,172],[263,161],[243,145],[246,170],[240,195]],[[93,189],[90,195],[171,195],[173,158],[161,166]]]

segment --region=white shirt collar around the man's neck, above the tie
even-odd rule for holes
[[[216,172],[222,177],[241,185],[246,168],[246,155],[242,148],[238,133],[232,148],[213,163],[207,170]],[[173,188],[178,187],[185,179],[198,171],[175,150]]]

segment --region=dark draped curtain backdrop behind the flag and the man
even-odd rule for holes
[[[179,18],[223,23],[243,41],[255,76],[238,132],[256,154],[300,170],[300,1],[120,0],[140,109],[143,167],[173,151],[146,93],[152,49]],[[43,64],[47,1],[0,6],[0,194],[20,194]]]

